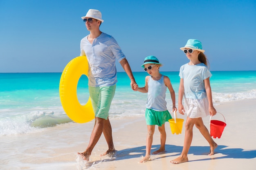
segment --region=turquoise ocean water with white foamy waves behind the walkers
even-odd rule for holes
[[[211,71],[213,104],[256,98],[256,71]],[[171,79],[178,99],[179,72],[162,72]],[[145,84],[146,72],[135,72],[137,84]],[[132,91],[126,73],[119,72],[117,90],[110,108],[110,118],[143,116],[146,93]],[[59,97],[61,73],[0,73],[0,137],[34,133],[71,122]],[[88,78],[82,75],[77,86],[77,97],[84,105],[89,97]],[[166,92],[167,108],[171,97]]]

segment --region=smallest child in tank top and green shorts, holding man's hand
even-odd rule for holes
[[[171,93],[173,111],[177,110],[175,107],[175,93],[170,79],[167,76],[159,73],[160,66],[162,66],[162,64],[159,63],[157,57],[152,55],[146,57],[144,59],[144,64],[141,67],[144,68],[144,71],[147,71],[150,76],[146,76],[144,87],[139,88],[137,84],[134,86],[135,91],[148,93],[148,100],[146,103],[146,124],[148,126],[146,155],[140,162],[150,160],[150,150],[153,142],[155,125],[158,125],[161,145],[159,150],[153,152],[153,154],[158,154],[165,151],[166,132],[164,123],[169,119],[172,119],[171,114],[166,107],[166,87],[168,87]]]

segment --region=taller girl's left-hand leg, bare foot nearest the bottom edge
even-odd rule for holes
[[[192,119],[187,117],[185,124],[185,138],[184,138],[184,146],[181,152],[181,155],[176,159],[173,159],[171,163],[183,163],[189,161],[188,152],[191,146],[192,138],[193,138],[193,126],[198,118]]]

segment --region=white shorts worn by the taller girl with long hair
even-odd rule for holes
[[[185,113],[190,118],[207,117],[209,113],[209,102],[207,97],[203,99],[184,99]]]

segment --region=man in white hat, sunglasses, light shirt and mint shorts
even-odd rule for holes
[[[95,114],[95,124],[88,147],[84,152],[78,154],[88,161],[102,132],[108,143],[108,150],[101,156],[116,152],[112,139],[112,128],[108,119],[108,112],[115,95],[117,83],[115,60],[118,60],[130,78],[132,90],[134,90],[133,85],[136,82],[130,65],[117,41],[111,35],[99,30],[99,26],[103,22],[101,12],[96,9],[89,9],[87,14],[81,18],[85,22],[88,31],[90,31],[90,34],[81,40],[80,55],[86,55],[89,63],[88,86]]]

